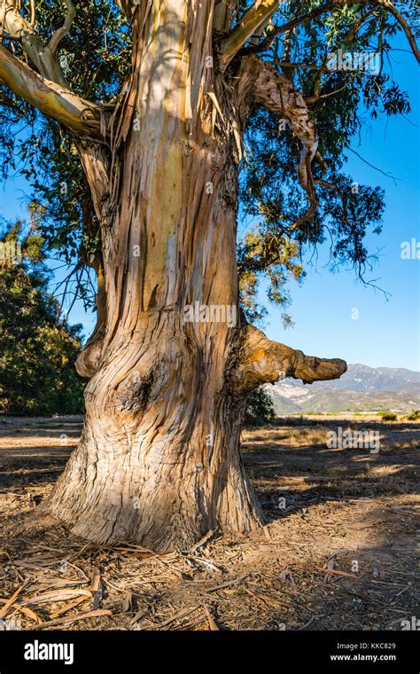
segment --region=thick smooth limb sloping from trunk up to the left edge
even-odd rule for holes
[[[43,114],[77,134],[101,137],[100,109],[35,73],[0,45],[0,82]]]

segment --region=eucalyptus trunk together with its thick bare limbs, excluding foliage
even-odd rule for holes
[[[256,4],[261,24],[276,3]],[[53,69],[40,82],[0,46],[4,82],[23,90],[27,78],[24,98],[74,135],[101,223],[97,328],[77,364],[89,378],[82,440],[47,504],[99,543],[166,551],[210,529],[260,526],[239,453],[247,394],[346,370],[268,341],[240,317],[237,170],[252,106],[290,123],[309,200],[317,142],[291,82],[261,59],[234,59],[260,25],[253,12],[214,50],[228,5],[137,5],[132,74],[112,110],[76,98]]]

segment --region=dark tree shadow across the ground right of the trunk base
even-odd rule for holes
[[[285,419],[280,422],[284,425],[257,430],[242,444],[245,467],[268,522],[329,500],[416,492],[420,425],[369,423],[363,419],[305,421],[287,425]],[[378,431],[378,451],[358,446],[330,449],[325,432],[337,432],[338,427],[363,433]]]

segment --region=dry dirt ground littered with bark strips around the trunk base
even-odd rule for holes
[[[81,427],[0,419],[0,629],[401,630],[418,616],[419,424],[311,416],[245,431],[267,526],[160,555],[37,514]],[[378,431],[380,450],[329,449],[338,427]]]

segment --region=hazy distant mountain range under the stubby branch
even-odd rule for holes
[[[420,372],[404,368],[353,364],[339,380],[305,386],[287,379],[267,390],[277,414],[420,409]]]

